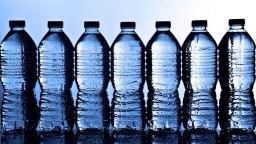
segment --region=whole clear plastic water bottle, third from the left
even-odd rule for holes
[[[76,118],[79,131],[104,130],[109,126],[109,82],[110,48],[98,30],[99,22],[84,22],[85,32],[75,47],[76,83],[78,95]]]

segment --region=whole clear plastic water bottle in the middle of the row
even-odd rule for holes
[[[134,29],[135,22],[121,22],[121,33],[111,46],[114,130],[141,131],[145,126],[145,46]]]

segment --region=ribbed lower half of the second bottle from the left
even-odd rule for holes
[[[74,125],[74,105],[71,91],[41,93],[39,131],[68,132]]]

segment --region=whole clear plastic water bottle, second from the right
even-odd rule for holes
[[[182,46],[183,125],[187,130],[215,130],[217,121],[217,46],[206,30],[207,21],[192,21],[193,30]]]

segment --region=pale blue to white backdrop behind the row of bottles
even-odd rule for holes
[[[136,32],[146,45],[155,32],[155,21],[169,20],[172,33],[182,44],[191,31],[191,21],[205,19],[219,43],[231,18],[244,18],[246,30],[256,40],[254,0],[0,0],[0,40],[9,31],[9,20],[25,20],[26,31],[36,44],[48,31],[47,21],[62,20],[64,32],[75,45],[84,31],[83,21],[97,20],[111,45],[120,32],[120,22],[135,21]],[[182,82],[179,92],[182,99]],[[219,86],[216,93],[220,93]]]

